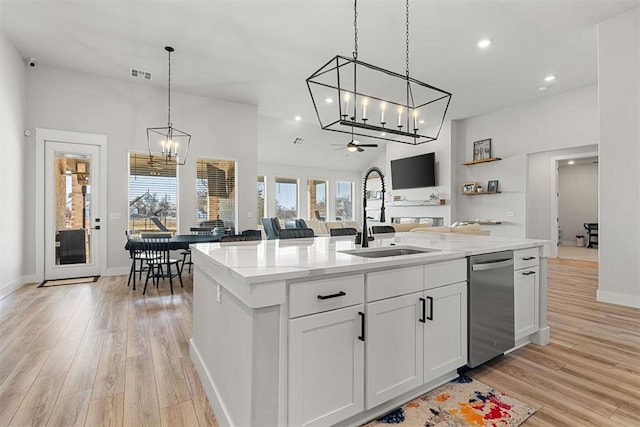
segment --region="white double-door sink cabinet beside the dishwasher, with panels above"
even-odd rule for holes
[[[467,363],[466,261],[423,267],[423,274],[412,267],[410,276],[404,269],[367,275],[367,301],[372,289],[382,288],[382,278],[386,289],[415,288],[415,282],[398,280],[408,277],[429,288],[366,304],[367,409]]]

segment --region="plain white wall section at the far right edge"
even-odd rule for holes
[[[598,89],[598,301],[640,307],[640,8],[599,25]]]

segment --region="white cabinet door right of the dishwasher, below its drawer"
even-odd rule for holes
[[[538,331],[538,267],[514,272],[514,317],[516,341]]]

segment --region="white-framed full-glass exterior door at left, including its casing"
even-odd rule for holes
[[[36,207],[42,236],[36,268],[43,280],[98,276],[105,255],[106,136],[36,129],[38,180],[44,182]]]

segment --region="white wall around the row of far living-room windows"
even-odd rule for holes
[[[266,200],[267,210],[265,215],[273,217],[276,215],[275,211],[275,178],[297,178],[298,179],[298,217],[299,218],[314,218],[313,212],[309,212],[307,209],[307,180],[319,179],[327,180],[329,182],[329,195],[327,200],[327,221],[335,219],[335,199],[336,199],[336,181],[353,182],[355,185],[353,209],[355,219],[361,221],[360,212],[362,210],[362,178],[359,173],[349,172],[343,170],[332,169],[316,169],[305,166],[293,166],[293,165],[278,165],[270,163],[258,164],[258,175],[264,175],[266,177]],[[255,181],[255,179],[254,179]],[[254,184],[255,193],[255,184]],[[311,214],[311,215],[310,215]],[[258,222],[260,218],[257,218]],[[255,228],[255,225],[254,225]]]

